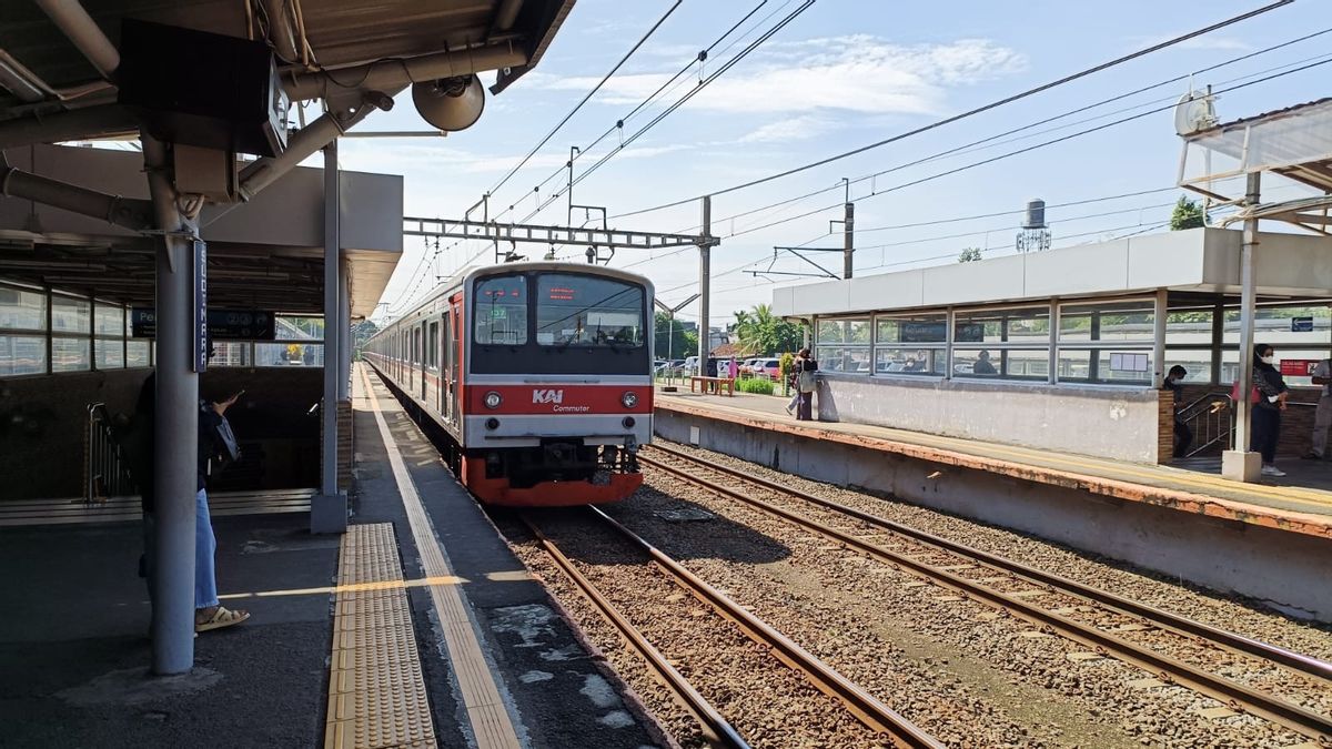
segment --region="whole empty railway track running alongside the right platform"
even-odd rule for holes
[[[1094,649],[1099,654],[1136,665],[1163,682],[1187,686],[1220,701],[1232,710],[1247,712],[1313,740],[1332,742],[1332,718],[1328,716],[1167,656],[1130,640],[1127,636],[1142,637],[1150,633],[1167,633],[1176,638],[1189,640],[1212,653],[1233,653],[1265,664],[1265,666],[1285,669],[1287,673],[1307,680],[1308,684],[1321,686],[1332,684],[1332,665],[1324,661],[1187,620],[791,486],[750,476],[725,465],[706,462],[659,444],[654,445],[650,452],[641,453],[639,460],[649,468],[741,501],[883,561],[895,569],[948,588],[964,598],[979,601],[1023,618],[1038,628],[1058,633],[1067,640]],[[706,477],[707,474],[719,476],[727,484],[710,480]],[[876,540],[867,540],[867,533],[863,530],[834,528],[786,506],[757,498],[737,488],[735,480],[783,500],[815,505],[819,512],[830,510],[868,525],[872,529],[868,534],[884,536],[894,545],[888,546]],[[966,574],[962,574],[963,572]],[[1066,605],[1043,606],[1035,601],[1035,598],[1043,597],[1063,598]],[[1070,601],[1075,601],[1076,605],[1067,605]],[[1084,621],[1088,614],[1095,621]]]

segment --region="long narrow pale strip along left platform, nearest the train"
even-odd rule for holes
[[[402,505],[406,508],[408,524],[412,526],[412,536],[416,538],[425,576],[426,578],[454,580],[453,568],[434,536],[430,518],[426,516],[421,496],[408,473],[402,453],[389,433],[389,425],[380,409],[380,398],[370,385],[365,368],[357,367],[361,374],[357,384],[380,426],[380,436],[384,438],[384,448],[393,468],[393,478],[397,481]],[[477,749],[519,749],[522,744],[518,741],[518,732],[503,698],[500,696],[500,686],[481,649],[481,638],[472,617],[468,616],[468,606],[462,600],[461,590],[453,584],[429,585],[429,590],[436,614],[444,628],[444,644],[449,664],[458,680],[458,692],[476,736]]]

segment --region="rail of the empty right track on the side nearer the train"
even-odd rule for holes
[[[690,457],[690,460],[694,458]],[[830,528],[799,513],[779,508],[762,500],[747,497],[735,489],[693,476],[683,469],[651,460],[642,453],[639,453],[639,461],[678,476],[691,484],[705,486],[718,494],[739,500],[807,530],[838,541],[848,548],[854,548],[867,556],[887,562],[894,569],[907,569],[916,576],[932,578],[942,585],[962,593],[967,598],[1010,612],[1038,626],[1048,628],[1050,630],[1058,632],[1063,637],[1080,642],[1099,653],[1114,654],[1124,662],[1136,665],[1148,673],[1156,674],[1163,681],[1188,686],[1200,694],[1205,694],[1220,701],[1231,709],[1252,713],[1319,741],[1332,741],[1332,718],[1297,705],[1292,705],[1275,696],[1259,692],[1228,678],[1196,669],[1188,664],[1171,658],[1169,656],[1164,656],[1127,640],[1114,637],[1091,625],[1056,614],[1007,593],[1000,593],[979,582],[954,574],[946,569],[915,560],[907,554],[862,541],[850,533]],[[694,462],[702,464],[702,461],[697,460],[694,460]],[[707,468],[713,468],[711,464],[706,465]],[[781,490],[786,493],[791,492],[785,486],[781,488]]]

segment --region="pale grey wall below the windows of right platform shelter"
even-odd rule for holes
[[[826,373],[817,402],[821,421],[1156,462],[1159,398],[1147,388]]]

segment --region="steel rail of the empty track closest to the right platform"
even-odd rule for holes
[[[662,446],[659,444],[654,444],[653,449],[661,450],[661,452],[667,453],[670,456],[675,456],[675,457],[681,457],[681,458],[690,460],[690,461],[694,461],[694,462],[699,462],[697,458],[694,458],[689,453],[683,453],[683,452],[679,452],[679,450],[673,449],[673,448],[665,448],[665,446]],[[1028,565],[1024,565],[1022,562],[1016,562],[1016,561],[1012,561],[1012,560],[1008,560],[1008,558],[1004,558],[1004,557],[999,557],[999,556],[991,554],[988,552],[983,552],[980,549],[976,549],[976,548],[972,548],[972,546],[967,546],[966,544],[959,544],[956,541],[950,541],[947,538],[943,538],[942,536],[935,536],[932,533],[920,530],[918,528],[911,528],[910,525],[903,525],[900,522],[895,522],[895,521],[891,521],[888,518],[879,517],[876,514],[871,514],[871,513],[867,513],[867,512],[860,512],[860,510],[858,510],[855,508],[850,508],[850,506],[834,502],[831,500],[826,500],[823,497],[817,497],[814,494],[810,494],[807,492],[802,492],[799,489],[794,489],[791,486],[783,486],[783,485],[781,485],[781,484],[778,484],[775,481],[770,481],[767,478],[761,478],[761,477],[757,477],[757,476],[750,476],[750,474],[743,473],[743,472],[741,472],[738,469],[734,469],[734,468],[729,468],[729,466],[725,466],[725,465],[714,465],[714,464],[707,464],[707,468],[711,469],[711,470],[717,470],[718,473],[725,473],[727,476],[734,476],[737,478],[742,478],[745,481],[749,481],[751,484],[757,484],[759,486],[763,486],[766,489],[771,489],[774,492],[782,492],[782,493],[786,493],[786,494],[791,494],[791,496],[799,497],[799,498],[802,498],[802,500],[805,500],[807,502],[813,502],[813,504],[817,504],[819,506],[825,506],[827,509],[831,509],[831,510],[835,510],[835,512],[840,512],[843,514],[848,514],[848,516],[851,516],[851,517],[854,517],[856,520],[860,520],[863,522],[868,522],[870,525],[874,525],[874,526],[878,526],[878,528],[883,528],[884,530],[891,530],[891,532],[902,534],[902,536],[907,536],[911,540],[922,542],[924,545],[936,546],[936,548],[939,548],[942,550],[946,550],[946,552],[952,552],[955,554],[962,554],[962,556],[971,557],[972,560],[976,560],[976,561],[979,561],[982,564],[986,564],[986,565],[994,566],[996,569],[1002,569],[1002,570],[1010,572],[1010,573],[1020,576],[1020,577],[1026,577],[1026,578],[1028,578],[1031,582],[1034,582],[1036,585],[1050,585],[1050,586],[1054,586],[1054,588],[1059,588],[1059,589],[1062,589],[1063,592],[1066,592],[1068,594],[1079,596],[1079,597],[1087,598],[1090,601],[1098,602],[1102,606],[1112,609],[1112,610],[1115,610],[1115,612],[1118,612],[1120,614],[1131,616],[1131,617],[1136,616],[1136,617],[1140,617],[1143,620],[1147,620],[1151,624],[1154,624],[1154,625],[1156,625],[1156,626],[1159,626],[1162,629],[1171,630],[1171,632],[1175,632],[1177,634],[1201,637],[1201,638],[1209,640],[1211,644],[1213,644],[1213,645],[1220,645],[1223,648],[1227,648],[1229,650],[1233,650],[1233,652],[1244,654],[1244,656],[1251,656],[1251,657],[1256,657],[1256,658],[1272,661],[1275,664],[1287,666],[1287,668],[1289,668],[1292,670],[1296,670],[1296,672],[1300,672],[1303,674],[1312,676],[1315,678],[1320,678],[1324,682],[1328,682],[1329,685],[1332,685],[1332,664],[1329,664],[1327,661],[1320,661],[1319,658],[1315,658],[1315,657],[1311,657],[1311,656],[1305,656],[1303,653],[1296,653],[1293,650],[1287,650],[1285,648],[1271,645],[1271,644],[1263,642],[1260,640],[1253,640],[1253,638],[1249,638],[1249,637],[1244,637],[1243,634],[1236,634],[1233,632],[1227,632],[1224,629],[1217,629],[1217,628],[1215,628],[1215,626],[1212,626],[1209,624],[1203,624],[1200,621],[1193,621],[1191,618],[1181,617],[1179,614],[1171,613],[1171,612],[1164,610],[1164,609],[1158,609],[1155,606],[1148,606],[1146,604],[1140,604],[1140,602],[1134,601],[1131,598],[1126,598],[1123,596],[1116,596],[1115,593],[1111,593],[1108,590],[1102,590],[1099,588],[1092,588],[1091,585],[1086,585],[1083,582],[1078,582],[1076,580],[1070,580],[1067,577],[1063,577],[1063,576],[1059,576],[1059,574],[1054,574],[1054,573],[1050,573],[1050,572],[1044,572],[1042,569],[1038,569],[1038,568],[1034,568],[1034,566],[1028,566]]]

